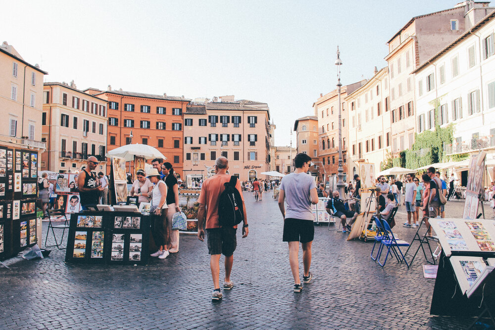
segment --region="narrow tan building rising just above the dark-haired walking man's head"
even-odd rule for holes
[[[296,120],[294,123],[294,132],[296,132],[297,153],[303,152],[311,157],[315,164],[318,158],[318,118],[316,116],[305,116]],[[317,175],[316,167],[309,169],[313,175]]]

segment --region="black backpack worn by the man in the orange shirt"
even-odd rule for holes
[[[222,227],[233,227],[244,220],[243,200],[236,184],[237,177],[231,176],[218,200],[218,223]]]

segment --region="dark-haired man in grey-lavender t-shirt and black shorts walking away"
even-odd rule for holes
[[[316,183],[306,172],[311,166],[311,157],[298,153],[294,158],[296,170],[282,178],[278,204],[284,218],[282,240],[289,244],[289,263],[294,277],[294,292],[301,292],[299,279],[299,241],[302,244],[303,283],[309,283],[313,277],[311,266],[311,243],[314,238],[313,214],[311,204],[318,203]],[[287,211],[284,199],[287,197]],[[310,197],[310,198],[308,198]]]

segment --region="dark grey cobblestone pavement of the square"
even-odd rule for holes
[[[147,266],[65,264],[49,258],[7,260],[0,269],[0,329],[465,329],[469,318],[429,315],[435,280],[423,278],[424,258],[410,269],[369,257],[372,243],[315,227],[314,279],[294,293],[282,216],[269,193],[247,201],[249,236],[234,254],[231,291],[210,300],[206,242],[182,236],[180,252]],[[459,216],[462,202],[450,202]],[[412,229],[396,233],[411,239]],[[44,224],[46,231],[46,223]],[[299,255],[301,259],[302,253]],[[221,259],[223,262],[223,258]],[[301,266],[302,269],[302,266]],[[220,276],[223,277],[221,267]],[[301,271],[302,276],[302,271]]]

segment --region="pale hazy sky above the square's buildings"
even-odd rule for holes
[[[48,71],[45,82],[268,103],[275,145],[320,93],[385,67],[387,42],[448,0],[0,0],[0,42]],[[293,146],[295,147],[295,135]]]

